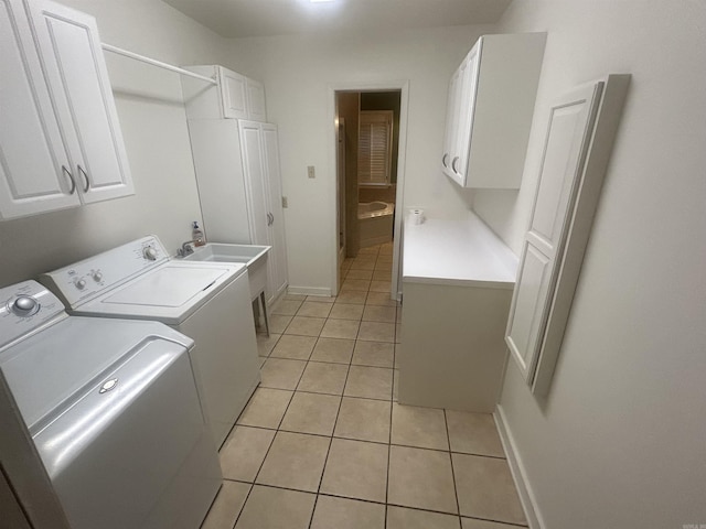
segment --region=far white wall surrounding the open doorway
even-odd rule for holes
[[[289,282],[328,289],[334,282],[335,164],[331,86],[409,80],[407,207],[468,209],[468,194],[439,171],[448,82],[488,26],[392,34],[280,36],[233,41],[239,72],[265,83],[268,119],[279,126]],[[314,165],[317,179],[307,179]]]

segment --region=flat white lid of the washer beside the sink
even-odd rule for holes
[[[103,303],[183,306],[227,273],[227,268],[184,268],[167,264],[104,298]]]

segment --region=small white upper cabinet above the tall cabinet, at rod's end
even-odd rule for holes
[[[186,66],[196,74],[217,80],[216,86],[184,78],[182,87],[189,119],[232,118],[264,122],[265,86],[223,66]]]

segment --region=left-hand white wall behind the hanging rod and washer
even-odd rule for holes
[[[225,62],[225,41],[156,0],[66,0],[97,18],[100,36],[173,64]],[[176,74],[106,53],[136,194],[0,223],[4,287],[148,233],[172,251],[201,218]]]

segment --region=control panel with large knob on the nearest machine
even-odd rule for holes
[[[36,281],[0,289],[0,348],[62,314],[58,298]]]

